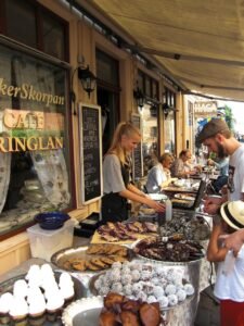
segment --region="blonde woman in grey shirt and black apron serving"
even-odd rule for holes
[[[103,161],[102,223],[128,218],[127,200],[146,204],[157,212],[165,205],[149,198],[130,183],[130,155],[141,141],[140,130],[131,123],[118,124]]]

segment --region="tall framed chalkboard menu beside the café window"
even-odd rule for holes
[[[81,197],[82,203],[102,196],[101,108],[79,105]]]

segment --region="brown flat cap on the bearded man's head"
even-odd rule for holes
[[[218,133],[230,130],[224,120],[215,117],[210,120],[196,136],[196,142],[202,143],[205,139],[214,137]]]

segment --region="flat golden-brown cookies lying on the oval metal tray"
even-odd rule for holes
[[[102,271],[110,268],[115,262],[130,259],[129,249],[119,244],[91,244],[85,251],[78,251],[64,260],[57,266],[72,271]]]

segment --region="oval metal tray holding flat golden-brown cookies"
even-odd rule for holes
[[[88,253],[92,248],[100,250],[97,253]],[[52,255],[51,262],[68,272],[94,273],[111,267],[114,262],[131,261],[133,256],[133,251],[125,246],[105,243],[62,249]]]

